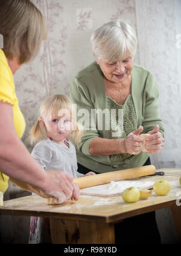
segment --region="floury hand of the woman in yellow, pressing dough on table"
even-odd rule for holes
[[[51,197],[56,197],[56,203],[63,203],[69,199],[78,200],[79,188],[72,180],[72,177],[63,171],[46,171],[43,191]]]

